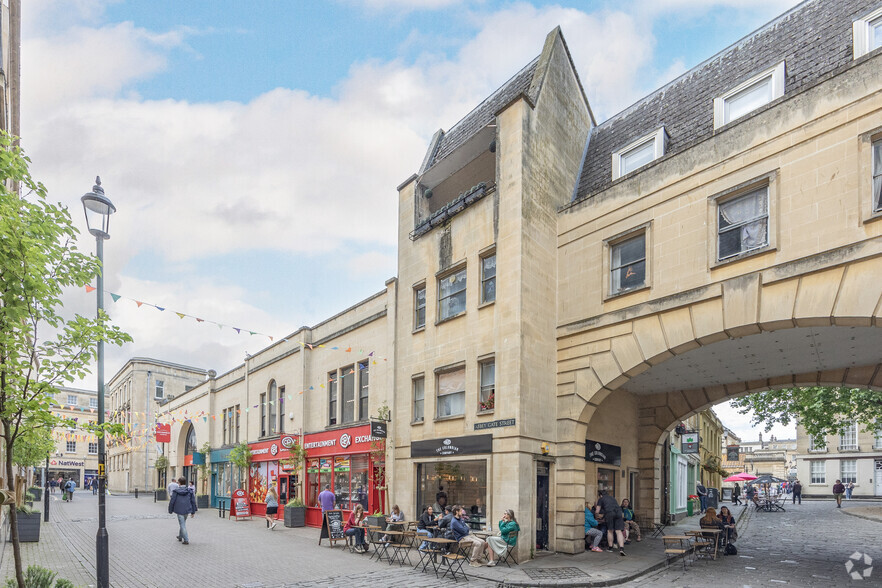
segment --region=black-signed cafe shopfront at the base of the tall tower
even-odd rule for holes
[[[448,437],[411,443],[411,457],[433,458],[416,462],[418,512],[415,516],[419,516],[427,506],[458,504],[465,507],[470,526],[483,528],[487,517],[488,462],[492,451],[493,435]],[[459,456],[470,457],[449,459]]]

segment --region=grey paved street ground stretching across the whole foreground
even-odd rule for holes
[[[50,522],[44,523],[38,543],[22,544],[25,566],[35,563],[58,572],[77,586],[95,585],[97,497],[88,492],[64,503],[52,495]],[[42,508],[42,504],[40,505]],[[870,509],[870,510],[866,510]],[[466,567],[468,586],[829,586],[851,581],[845,564],[860,553],[852,571],[862,571],[862,554],[882,558],[882,524],[868,518],[882,513],[882,503],[845,504],[811,501],[788,506],[784,513],[755,512],[736,507],[740,516],[739,554],[717,561],[699,561],[685,570],[679,563],[665,567],[660,539],[644,535],[632,541],[627,556],[617,552],[578,555],[539,555],[507,568]],[[855,515],[855,516],[848,516]],[[187,523],[190,545],[175,540],[177,521],[166,504],[141,495],[110,496],[107,530],[110,579],[116,587],[229,586],[233,588],[289,588],[308,586],[431,587],[453,586],[411,567],[370,561],[341,548],[318,545],[318,530],[269,531],[263,519],[231,521],[216,510],[200,511]],[[698,528],[698,517],[688,518],[668,534]],[[882,560],[880,560],[882,561]],[[415,563],[415,562],[414,562]],[[12,572],[12,546],[3,554],[0,577]],[[880,572],[882,574],[882,572]],[[866,585],[872,585],[867,582]],[[876,585],[880,585],[877,583]]]

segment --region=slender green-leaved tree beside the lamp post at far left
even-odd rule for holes
[[[14,139],[0,134],[0,438],[13,492],[17,442],[62,422],[75,426],[53,413],[58,387],[86,376],[99,339],[113,345],[132,340],[109,325],[106,314],[62,316],[63,290],[85,286],[100,266],[77,250],[79,231],[70,213],[46,200],[46,188],[31,177],[29,163]],[[24,193],[10,186],[21,186]],[[114,425],[90,430],[102,435],[114,432]],[[24,587],[14,508],[9,515],[15,578]]]

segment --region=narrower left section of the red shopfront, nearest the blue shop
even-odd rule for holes
[[[248,471],[248,500],[254,515],[266,514],[266,492],[275,486],[279,496],[277,519],[285,517],[284,505],[288,494],[297,497],[298,472],[290,471],[289,467],[279,460],[288,457],[287,447],[296,443],[297,437],[283,435],[281,439],[250,443],[251,467]]]

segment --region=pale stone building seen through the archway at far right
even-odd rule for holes
[[[836,480],[854,483],[854,497],[882,496],[882,427],[867,431],[852,423],[821,442],[797,425],[796,477],[807,497],[830,496]]]

